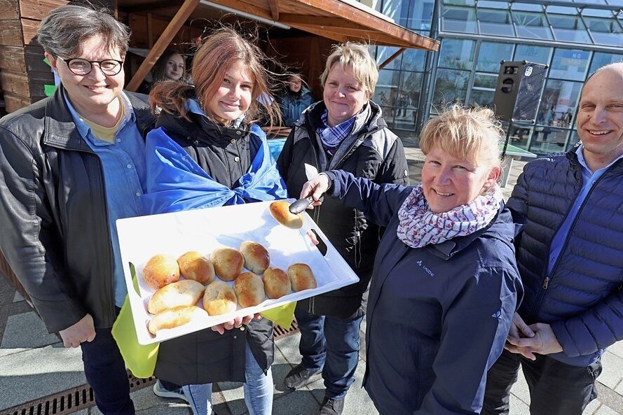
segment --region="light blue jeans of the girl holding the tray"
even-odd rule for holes
[[[251,348],[245,347],[245,384],[242,389],[245,393],[245,404],[249,415],[271,415],[273,411],[273,372],[268,367],[264,374],[257,364]],[[171,382],[160,383],[170,391],[179,388]],[[212,384],[182,386],[184,395],[189,399],[193,415],[212,414]]]

